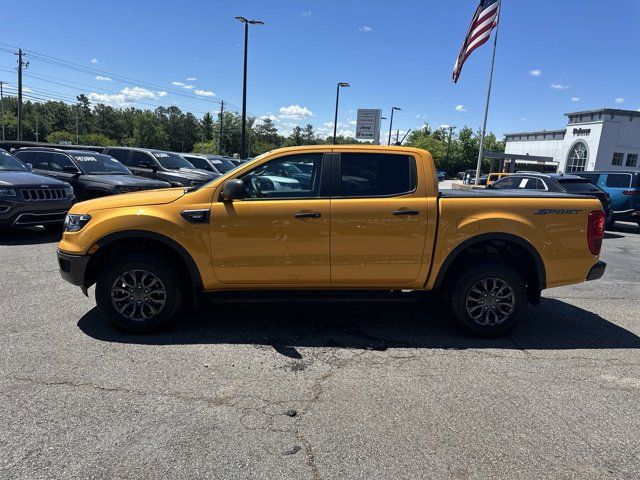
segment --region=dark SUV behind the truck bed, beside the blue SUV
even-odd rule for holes
[[[612,224],[611,199],[609,194],[593,185],[586,178],[562,173],[514,173],[487,185],[491,190],[538,190],[574,195],[591,195],[602,203],[606,225]]]

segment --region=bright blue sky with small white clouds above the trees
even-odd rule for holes
[[[394,118],[402,130],[424,121],[478,128],[490,44],[472,54],[458,84],[451,82],[476,5],[61,0],[54,7],[23,0],[4,5],[0,41],[111,78],[32,56],[25,85],[33,96],[85,93],[94,101],[142,102],[142,108],[177,104],[201,116],[217,111],[216,100],[241,105],[243,32],[234,17],[243,15],[265,22],[250,32],[248,111],[272,116],[283,133],[306,123],[329,132],[338,81],[352,85],[341,93],[339,129],[345,133],[355,129],[350,122],[357,108],[382,108],[388,116],[393,105],[402,108]],[[569,111],[640,108],[639,0],[504,0],[502,10],[490,130],[560,128]],[[0,50],[0,80],[10,84],[9,92],[14,67],[15,57]]]

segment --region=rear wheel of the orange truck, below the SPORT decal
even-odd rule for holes
[[[453,284],[451,311],[467,330],[495,337],[515,327],[527,311],[526,286],[518,273],[499,263],[470,268]]]

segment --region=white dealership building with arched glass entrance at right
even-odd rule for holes
[[[536,157],[538,163],[557,166],[559,172],[583,170],[638,170],[640,111],[603,108],[565,114],[566,128],[507,133],[504,157]],[[520,168],[525,169],[525,168]]]

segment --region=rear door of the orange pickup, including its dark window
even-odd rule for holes
[[[417,279],[428,220],[418,160],[401,152],[334,155],[332,284],[400,286]]]

